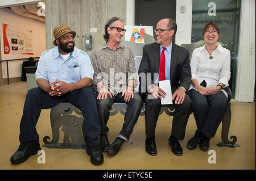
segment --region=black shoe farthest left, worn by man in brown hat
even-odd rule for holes
[[[26,161],[31,155],[38,154],[40,145],[20,145],[19,149],[11,156],[11,163],[18,164]]]

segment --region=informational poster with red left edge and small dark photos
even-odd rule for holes
[[[3,54],[34,54],[32,30],[2,24]]]

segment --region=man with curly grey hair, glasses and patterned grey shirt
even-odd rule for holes
[[[141,96],[134,92],[136,70],[133,52],[121,44],[125,31],[120,18],[111,18],[105,25],[106,44],[95,48],[91,55],[93,81],[97,87],[98,115],[102,126],[100,144],[102,151],[107,151],[110,155],[116,155],[123,142],[129,140],[143,106]],[[113,73],[114,78],[111,77]],[[101,75],[105,75],[105,78]],[[127,111],[122,130],[110,145],[107,123],[114,102],[126,103]]]

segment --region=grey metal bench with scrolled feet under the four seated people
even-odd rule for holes
[[[235,146],[239,146],[236,144],[237,137],[231,136],[229,141],[229,127],[231,121],[231,110],[230,110],[230,95],[231,91],[227,87],[226,91],[229,94],[229,102],[227,111],[222,119],[222,131],[221,131],[221,140],[217,146],[226,146],[229,148],[234,148]],[[126,103],[114,103],[112,106],[112,110],[110,110],[110,116],[116,115],[120,112],[122,115],[126,113],[127,105]],[[142,107],[141,116],[144,115],[145,106]],[[174,115],[174,108],[170,107],[162,107],[159,113],[162,114],[165,112],[167,115]],[[84,149],[85,141],[82,136],[82,113],[81,111],[73,106],[70,103],[60,103],[57,106],[51,109],[51,128],[52,128],[52,140],[49,136],[45,136],[43,138],[43,142],[47,148],[72,148],[72,149]],[[60,141],[60,128],[61,131],[64,132],[63,141]]]

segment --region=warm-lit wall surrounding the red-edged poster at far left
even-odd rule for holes
[[[2,30],[2,23],[10,24],[16,27],[30,29],[33,31],[33,50],[34,55],[32,57],[39,57],[44,50],[46,50],[46,24],[39,20],[26,18],[15,14],[10,9],[0,9],[0,26]],[[0,38],[2,39],[2,31]],[[3,52],[1,46],[1,52]],[[28,55],[26,58],[30,57]],[[9,77],[21,77],[22,61],[9,62]],[[7,78],[6,63],[2,63],[3,78]]]

